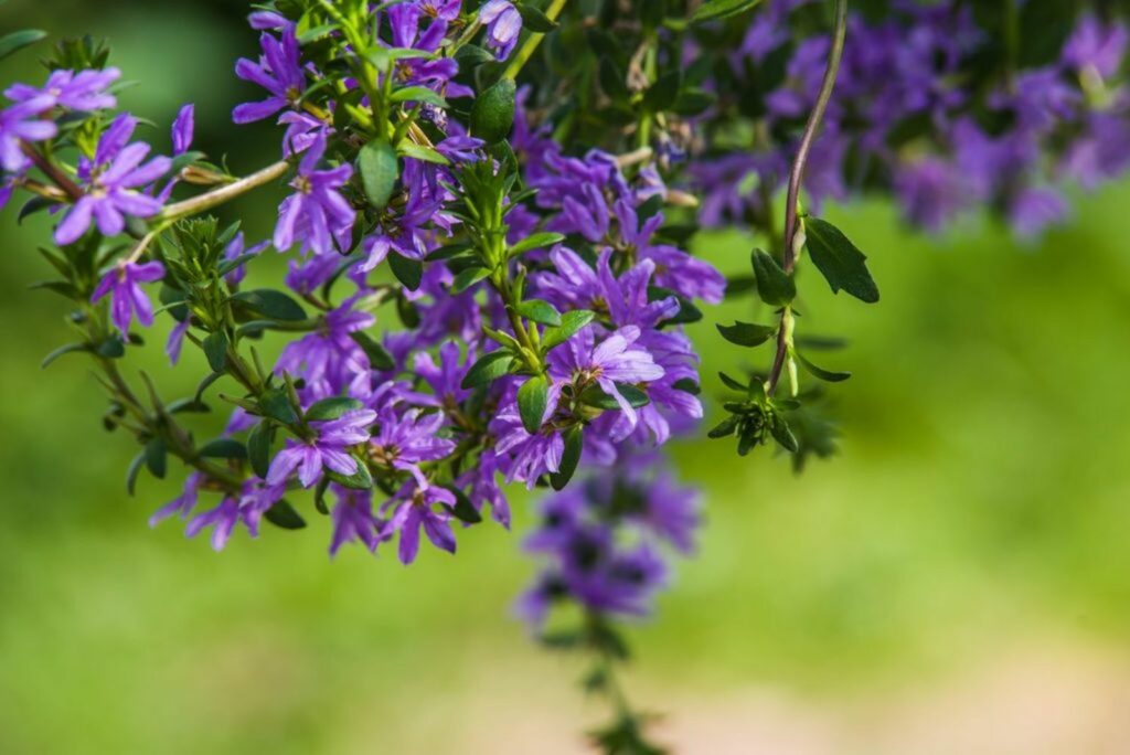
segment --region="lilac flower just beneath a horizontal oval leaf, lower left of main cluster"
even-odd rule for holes
[[[307,441],[288,441],[267,472],[268,485],[281,485],[297,470],[298,481],[310,487],[322,478],[322,468],[339,475],[355,475],[357,460],[348,452],[350,445],[368,440],[368,426],[376,419],[371,409],[348,411],[338,419],[311,423],[315,436]]]

